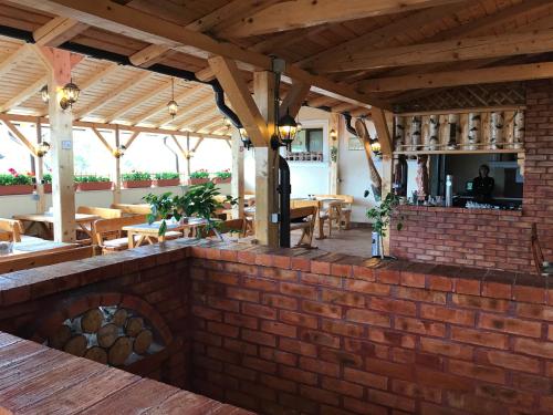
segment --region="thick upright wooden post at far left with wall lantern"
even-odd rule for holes
[[[52,152],[52,204],[54,240],[75,240],[75,188],[73,180],[73,113],[60,106],[63,86],[71,81],[71,53],[41,48],[49,66],[49,118]]]

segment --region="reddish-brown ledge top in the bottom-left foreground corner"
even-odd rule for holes
[[[3,332],[0,405],[18,414],[250,414]]]

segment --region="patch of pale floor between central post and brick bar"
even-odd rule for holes
[[[326,228],[325,231],[327,231]],[[341,231],[333,230],[332,237],[330,238],[313,238],[313,246],[327,252],[371,257],[371,228],[353,228]],[[292,246],[298,242],[300,236],[301,231],[292,232]]]

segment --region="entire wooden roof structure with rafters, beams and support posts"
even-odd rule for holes
[[[0,63],[2,74],[33,50],[49,68],[50,91],[73,76],[90,92],[73,112],[61,111],[50,100],[54,159],[65,172],[54,181],[60,238],[73,228],[72,212],[62,215],[61,206],[72,201],[65,176],[71,152],[64,152],[63,144],[71,142],[75,121],[94,117],[103,123],[221,133],[222,116],[215,110],[209,85],[197,83],[217,79],[253,142],[258,239],[274,246],[278,172],[269,142],[275,94],[284,97],[280,112],[292,116],[302,104],[371,116],[384,153],[386,191],[392,174],[392,112],[408,108],[414,100],[452,94],[460,86],[504,83],[509,87],[553,74],[549,56],[553,4],[546,0],[348,0],[343,4],[335,0],[20,0],[2,2],[0,24],[0,34],[35,43],[12,41]],[[71,51],[124,56],[132,68],[75,58]],[[274,91],[272,56],[285,61],[281,91]],[[177,82],[179,98],[190,100],[189,114],[169,120],[164,113],[169,84],[167,75],[153,73],[156,65],[194,73],[196,83]],[[1,96],[2,111],[43,107],[32,101],[44,76],[34,72],[33,80],[20,83],[15,92],[2,91],[7,94]],[[101,81],[109,85],[108,94],[94,86]]]

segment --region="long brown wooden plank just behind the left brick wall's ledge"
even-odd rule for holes
[[[0,261],[0,273],[14,272],[24,269],[51,266],[60,262],[75,261],[94,257],[94,247],[77,247],[58,252],[41,253],[25,256],[25,258],[14,258],[8,261]]]

